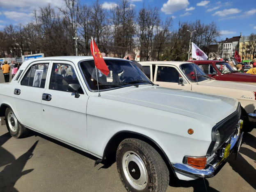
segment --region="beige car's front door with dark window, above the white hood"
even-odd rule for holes
[[[179,82],[179,79],[181,78],[183,78],[183,84]],[[160,87],[191,90],[190,83],[185,79],[176,66],[156,65],[153,83]]]

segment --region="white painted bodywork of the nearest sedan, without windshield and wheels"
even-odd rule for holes
[[[213,127],[237,112],[240,106],[238,100],[226,96],[150,84],[102,90],[99,96],[98,91],[89,88],[81,72],[80,62],[87,60],[91,62],[93,58],[45,57],[24,62],[10,83],[0,84],[1,107],[10,107],[26,128],[98,158],[103,158],[107,144],[119,133],[147,137],[165,153],[170,165],[174,165],[183,164],[185,155],[206,156],[213,142]],[[34,68],[40,64],[44,68]],[[73,83],[80,85],[79,98],[67,88],[58,90],[57,85],[53,85],[53,76],[62,76],[53,75],[56,66],[63,65],[68,66],[66,73],[73,74]],[[39,87],[33,86],[35,81],[30,82],[31,75],[26,76],[29,70],[41,75]],[[192,85],[187,82],[184,87],[191,90]],[[181,85],[173,88],[181,88]],[[189,128],[194,129],[194,134],[187,133]],[[179,171],[175,174],[184,180],[198,178]]]

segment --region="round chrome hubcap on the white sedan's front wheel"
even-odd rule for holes
[[[127,151],[122,160],[123,172],[126,180],[136,190],[144,190],[148,176],[144,162],[134,151]]]

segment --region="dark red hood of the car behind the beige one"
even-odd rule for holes
[[[222,75],[214,75],[213,78],[216,80],[229,80],[229,81],[243,81],[243,82],[256,82],[256,75],[251,75],[249,73],[225,73]]]

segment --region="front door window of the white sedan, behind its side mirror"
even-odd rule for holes
[[[49,89],[55,89],[58,91],[68,91],[69,84],[80,85],[73,66],[69,64],[54,63],[51,72]],[[78,92],[80,94],[83,94],[81,85]]]

